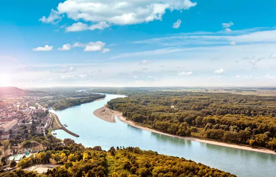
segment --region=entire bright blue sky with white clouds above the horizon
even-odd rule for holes
[[[0,86],[275,86],[275,6],[3,1]]]

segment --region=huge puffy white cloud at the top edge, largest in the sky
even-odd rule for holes
[[[57,10],[75,21],[127,25],[162,20],[166,10],[188,10],[196,4],[190,0],[67,0],[59,3]]]

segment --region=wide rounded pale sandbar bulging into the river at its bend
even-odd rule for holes
[[[97,110],[94,111],[94,115],[97,116],[98,118],[107,121],[107,122],[111,122],[111,123],[116,123],[115,121],[115,116],[121,117],[122,113],[118,112],[118,111],[113,111],[111,109],[108,109],[106,107],[107,104],[104,105],[104,107],[101,107]]]

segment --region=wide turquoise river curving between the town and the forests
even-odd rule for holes
[[[111,146],[133,146],[159,154],[191,159],[237,176],[275,177],[276,155],[228,148],[170,137],[141,130],[116,119],[109,123],[94,116],[94,110],[103,107],[107,101],[118,95],[107,95],[105,100],[71,107],[63,111],[53,111],[62,124],[80,137],[73,137],[63,130],[56,130],[56,137],[71,138],[85,147],[101,146],[108,150]],[[122,97],[122,96],[120,96]]]

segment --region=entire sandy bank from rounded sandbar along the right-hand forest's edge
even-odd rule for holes
[[[116,116],[118,116],[120,121],[122,121],[124,123],[127,123],[127,124],[129,124],[133,127],[140,128],[140,129],[147,130],[147,131],[154,132],[154,133],[164,134],[164,135],[171,136],[171,137],[178,137],[178,138],[181,138],[181,139],[187,139],[187,140],[191,140],[191,141],[198,141],[198,142],[201,142],[201,143],[208,143],[208,144],[214,144],[214,145],[219,145],[219,146],[225,146],[225,147],[231,147],[231,148],[237,148],[237,149],[244,149],[244,150],[248,150],[248,151],[256,151],[256,152],[262,152],[262,153],[270,153],[270,154],[275,154],[276,155],[276,152],[274,152],[272,150],[269,150],[269,149],[251,148],[249,146],[239,146],[239,145],[236,145],[236,144],[227,144],[227,143],[222,143],[222,142],[217,142],[217,141],[209,141],[209,140],[199,139],[199,138],[194,138],[194,137],[181,137],[181,136],[174,135],[174,134],[159,132],[157,130],[153,130],[153,129],[150,129],[150,128],[145,128],[145,127],[142,127],[140,125],[136,125],[132,121],[126,120],[126,118],[122,116],[122,113],[120,113],[118,111],[111,110],[111,109],[109,109],[105,106],[101,107],[100,109],[97,109],[96,111],[94,111],[94,115],[97,116],[98,118],[104,120],[104,121],[112,122],[112,123],[116,122],[115,119],[114,119],[114,116],[116,115]]]

